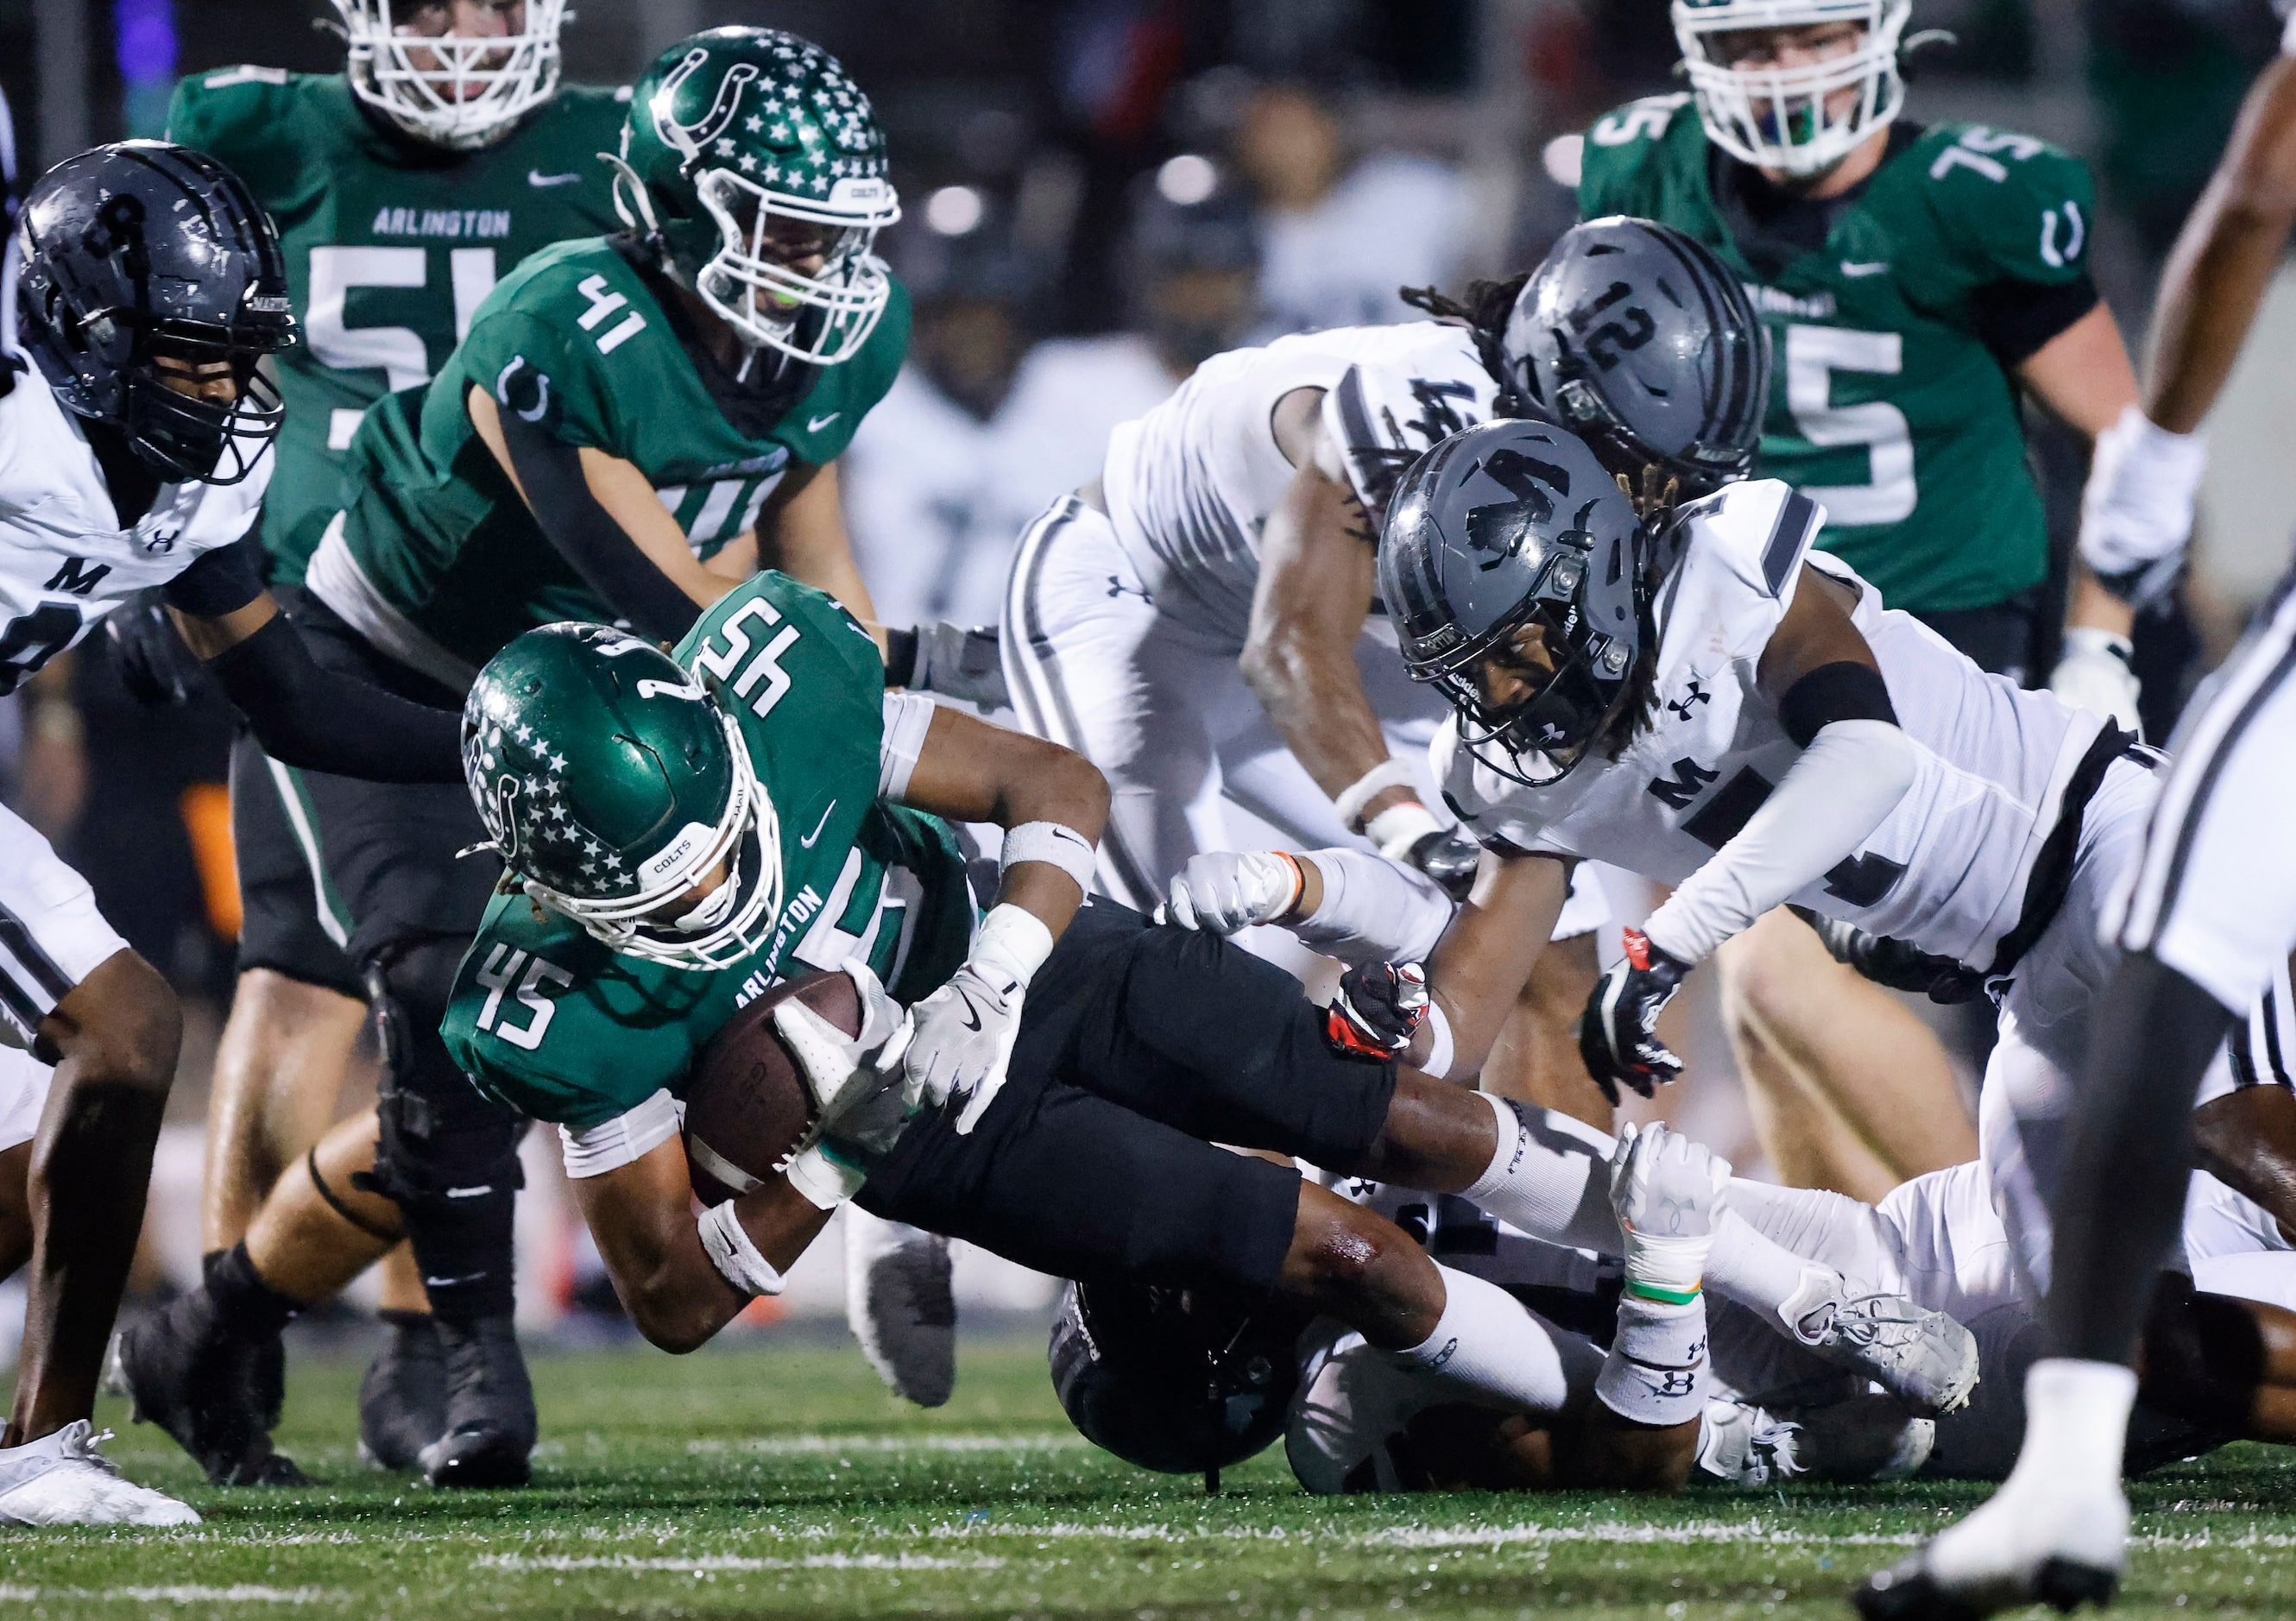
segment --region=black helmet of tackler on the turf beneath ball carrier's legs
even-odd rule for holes
[[[1212,1479],[1283,1433],[1302,1327],[1295,1309],[1221,1290],[1070,1283],[1047,1348],[1052,1389],[1095,1447]]]

